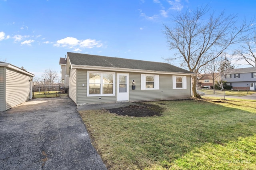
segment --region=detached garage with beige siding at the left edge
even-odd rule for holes
[[[0,111],[32,99],[34,76],[10,63],[0,62]]]

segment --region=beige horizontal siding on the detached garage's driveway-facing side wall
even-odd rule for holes
[[[30,99],[29,75],[6,68],[6,110]]]

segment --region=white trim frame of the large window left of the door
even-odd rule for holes
[[[89,94],[89,79],[90,73],[110,73],[113,74],[113,94],[102,94],[103,92],[103,76],[100,76],[100,93],[101,94]],[[104,72],[104,71],[87,71],[87,97],[97,97],[97,96],[115,96],[116,95],[116,73],[115,72]]]

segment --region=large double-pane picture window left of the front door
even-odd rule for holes
[[[115,95],[114,73],[88,71],[88,96]]]

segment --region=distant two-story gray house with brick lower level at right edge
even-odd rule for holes
[[[230,69],[224,81],[234,90],[256,90],[256,67]]]

